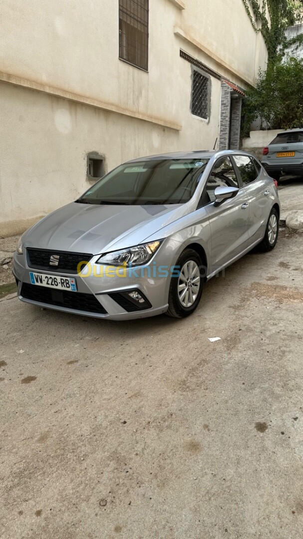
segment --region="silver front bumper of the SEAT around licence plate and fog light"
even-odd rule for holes
[[[170,249],[160,248],[162,254],[157,252],[156,257],[159,253],[161,260],[158,257],[159,260],[156,261],[154,257],[144,269],[142,268],[143,272],[141,268],[140,270],[133,268],[132,271],[126,269],[119,275],[118,272],[112,272],[111,276],[101,277],[94,275],[93,272],[87,277],[72,275],[77,283],[77,292],[64,292],[56,296],[53,294],[56,289],[33,285],[30,279],[30,271],[52,274],[51,269],[44,271],[29,267],[26,252],[23,254],[15,252],[13,275],[18,284],[18,298],[47,309],[109,320],[131,320],[162,314],[168,309],[170,278],[157,275],[155,267],[159,264],[170,267],[170,261],[167,259],[171,257],[173,246],[170,247]],[[97,259],[98,256],[91,260],[92,267]],[[60,272],[60,276],[71,277],[71,274],[63,271]],[[143,306],[127,299],[129,291],[138,291],[142,295],[146,300]]]

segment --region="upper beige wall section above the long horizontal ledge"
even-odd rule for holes
[[[132,110],[182,119],[171,99],[180,83],[174,71],[180,48],[174,36],[178,25],[222,58],[231,71],[254,80],[259,34],[242,0],[184,0],[182,11],[168,0],[150,0],[149,4],[148,74],[118,58],[118,0],[0,3],[0,18],[5,21],[0,33],[0,71]],[[266,53],[262,54],[261,67],[266,60]],[[218,67],[211,59],[208,64]]]

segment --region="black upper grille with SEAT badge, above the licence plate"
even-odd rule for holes
[[[77,273],[79,262],[88,262],[92,258],[92,254],[73,253],[68,251],[51,251],[50,249],[26,249],[27,264],[31,268],[48,269],[51,272],[61,271],[64,273]],[[58,266],[50,265],[51,255],[59,257]]]

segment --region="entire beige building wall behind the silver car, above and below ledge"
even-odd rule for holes
[[[119,60],[118,5],[0,3],[0,234],[84,191],[89,151],[110,170],[144,154],[214,147],[221,83],[211,77],[209,120],[192,116],[180,49],[244,87],[265,66],[242,0],[151,0],[148,73]]]

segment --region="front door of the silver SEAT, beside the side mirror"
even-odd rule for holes
[[[236,187],[237,195],[215,204],[215,189],[220,186]],[[203,191],[205,209],[209,215],[211,231],[211,271],[214,273],[248,246],[247,193],[239,183],[229,156],[219,157],[214,164]]]

